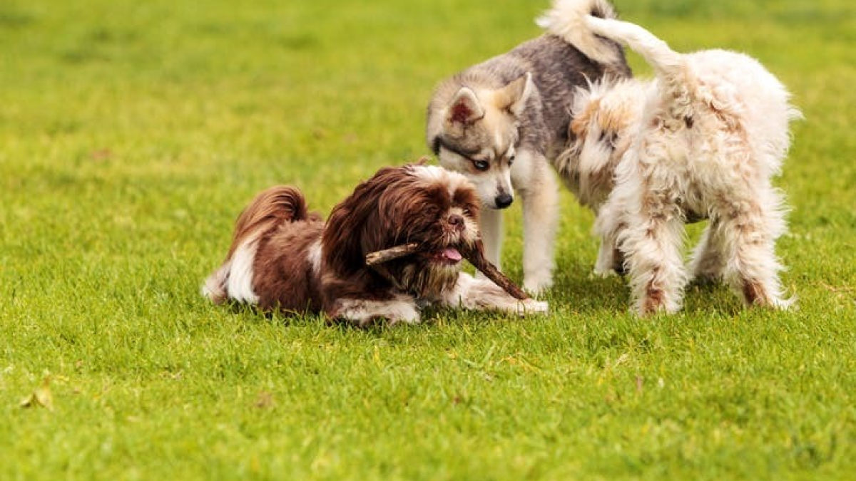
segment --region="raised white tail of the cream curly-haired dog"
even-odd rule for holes
[[[592,33],[627,45],[643,56],[657,75],[672,77],[683,73],[683,55],[670,49],[666,42],[645,28],[627,21],[598,18],[594,15],[586,15],[584,24]]]

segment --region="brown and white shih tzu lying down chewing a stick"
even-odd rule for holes
[[[518,300],[461,272],[484,256],[478,194],[463,175],[406,165],[377,171],[336,205],[324,223],[295,187],[259,193],[238,217],[223,265],[203,294],[265,311],[324,312],[363,326],[419,322],[428,305],[528,313],[547,303]],[[366,254],[411,243],[419,252],[366,265]]]

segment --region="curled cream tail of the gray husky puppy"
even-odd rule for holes
[[[622,62],[621,49],[600,39],[586,26],[586,17],[614,19],[615,9],[606,0],[553,0],[553,6],[535,23],[549,33],[574,45],[594,62],[606,65]]]

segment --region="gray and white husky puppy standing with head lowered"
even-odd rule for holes
[[[605,0],[554,0],[538,20],[544,35],[444,80],[428,105],[428,145],[444,168],[473,181],[486,207],[485,254],[496,265],[501,210],[520,195],[523,285],[534,293],[552,285],[559,199],[550,165],[568,145],[574,93],[605,75],[630,75],[621,47],[592,33],[586,15],[615,11]],[[562,177],[579,193],[578,181]]]

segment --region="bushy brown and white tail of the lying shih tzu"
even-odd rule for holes
[[[283,223],[315,218],[296,187],[270,187],[253,199],[235,223],[235,235],[226,260],[205,279],[202,294],[216,304],[231,299],[255,304],[253,263],[259,240]]]

